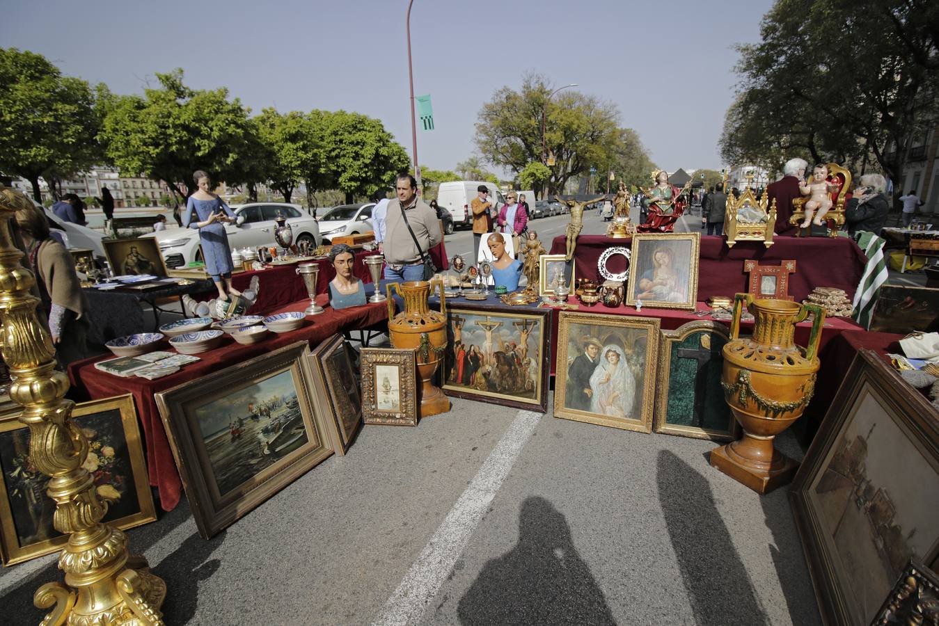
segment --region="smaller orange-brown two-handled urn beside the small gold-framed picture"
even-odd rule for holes
[[[440,311],[427,304],[432,288],[440,288]],[[395,348],[417,349],[417,370],[421,378],[421,417],[426,418],[450,410],[450,401],[433,384],[440,360],[447,348],[447,299],[443,281],[412,281],[387,285],[388,334]],[[392,290],[405,301],[405,310],[394,314]]]

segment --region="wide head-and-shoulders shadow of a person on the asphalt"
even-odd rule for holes
[[[457,615],[466,626],[616,623],[567,520],[543,497],[522,502],[516,547],[485,564]]]

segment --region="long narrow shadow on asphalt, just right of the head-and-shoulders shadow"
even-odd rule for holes
[[[697,624],[767,623],[711,486],[668,450],[658,453],[658,499]]]

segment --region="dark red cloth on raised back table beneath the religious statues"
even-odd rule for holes
[[[747,291],[744,261],[756,259],[764,265],[779,265],[784,259],[795,260],[795,273],[789,276],[789,294],[797,301],[808,298],[815,287],[837,287],[854,298],[868,259],[852,239],[847,237],[774,237],[766,248],[758,241],[741,241],[728,248],[724,237],[701,237],[698,267],[698,299],[712,296],[733,298]],[[596,262],[610,246],[630,247],[632,239],[613,239],[604,235],[577,237],[574,252],[575,276],[597,280]],[[552,254],[564,253],[564,236],[554,237]],[[610,259],[611,271],[623,271],[625,259]]]

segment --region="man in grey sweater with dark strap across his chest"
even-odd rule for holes
[[[418,199],[414,176],[398,176],[395,190],[398,197],[388,203],[385,216],[385,280],[422,281],[421,253],[443,240],[437,213]],[[408,232],[408,225],[414,237]],[[421,250],[414,245],[415,238]]]

